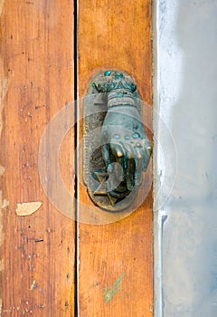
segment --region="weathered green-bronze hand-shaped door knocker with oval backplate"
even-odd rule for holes
[[[100,208],[124,211],[137,197],[152,152],[137,85],[126,72],[100,72],[83,103],[88,193]]]

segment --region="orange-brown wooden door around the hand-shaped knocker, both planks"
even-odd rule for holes
[[[5,0],[0,13],[1,315],[153,315],[152,191],[108,221],[74,162],[95,74],[129,73],[151,105],[151,1]]]

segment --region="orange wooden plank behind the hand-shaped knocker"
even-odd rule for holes
[[[143,101],[152,103],[150,0],[80,0],[80,98],[91,77],[107,69],[132,75]],[[152,193],[122,220],[99,225],[101,213],[90,202],[80,168],[80,317],[152,316]]]

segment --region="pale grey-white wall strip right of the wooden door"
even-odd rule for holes
[[[154,24],[156,316],[215,317],[217,1],[158,0]]]

